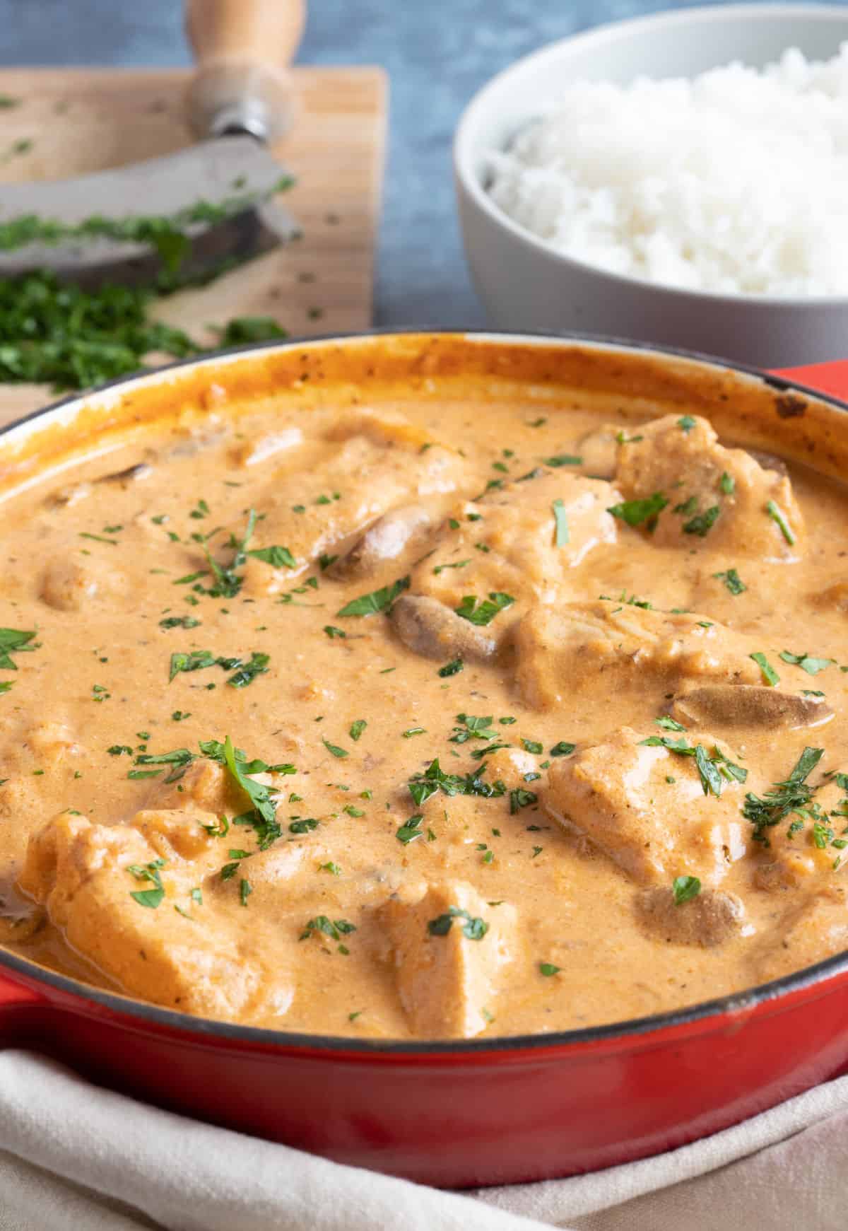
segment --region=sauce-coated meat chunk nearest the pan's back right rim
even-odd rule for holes
[[[615,483],[628,500],[667,499],[652,532],[661,547],[703,543],[735,559],[772,561],[802,551],[804,519],[789,479],[745,449],[719,444],[705,419],[665,415],[645,423],[619,446]]]

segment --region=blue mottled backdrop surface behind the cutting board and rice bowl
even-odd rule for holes
[[[459,245],[450,139],[487,78],[588,26],[704,2],[310,0],[299,62],[383,64],[390,76],[377,323],[482,323]],[[188,60],[178,0],[0,0],[0,64]]]

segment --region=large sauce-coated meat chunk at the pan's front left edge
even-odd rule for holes
[[[245,944],[224,912],[191,897],[218,863],[193,814],[139,814],[133,825],[102,826],[62,812],[30,840],[18,884],[129,995],[224,1019],[258,1007],[284,1011],[292,990],[278,947],[268,969],[256,936]],[[158,905],[154,875],[164,889]],[[146,901],[132,896],[148,891]]]

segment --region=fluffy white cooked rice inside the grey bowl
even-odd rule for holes
[[[848,43],[762,71],[577,81],[506,153],[492,198],[559,252],[693,291],[848,294]]]

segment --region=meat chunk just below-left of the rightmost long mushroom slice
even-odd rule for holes
[[[747,822],[736,783],[705,795],[694,757],[628,726],[601,744],[555,761],[543,805],[583,835],[641,885],[670,886],[678,875],[718,885],[745,854]],[[711,752],[715,740],[704,739]]]

